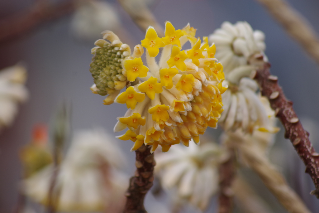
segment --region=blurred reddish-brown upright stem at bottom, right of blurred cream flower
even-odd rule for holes
[[[236,174],[234,149],[229,149],[229,154],[229,159],[219,167],[219,213],[231,213],[233,211],[234,192],[232,185]]]

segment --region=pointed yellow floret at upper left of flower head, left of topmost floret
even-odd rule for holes
[[[159,54],[159,48],[164,47],[162,39],[157,36],[157,33],[153,27],[149,27],[146,30],[145,39],[141,41],[142,46],[145,47],[151,57]]]

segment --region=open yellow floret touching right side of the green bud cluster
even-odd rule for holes
[[[142,58],[126,59],[123,61],[126,70],[127,79],[135,81],[137,77],[144,78],[149,71],[148,67],[143,65]]]

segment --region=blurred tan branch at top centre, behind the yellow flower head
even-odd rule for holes
[[[143,32],[146,32],[148,26],[153,26],[158,36],[164,37],[163,28],[143,1],[118,0],[118,2]]]

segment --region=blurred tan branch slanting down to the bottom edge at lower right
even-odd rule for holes
[[[271,164],[265,153],[254,146],[247,136],[241,131],[227,133],[231,143],[238,148],[239,155],[248,164],[248,166],[258,174],[265,186],[278,199],[281,205],[290,213],[310,213],[310,210],[302,202],[300,197],[287,184],[284,176],[273,164]],[[234,143],[233,141],[236,141]]]

